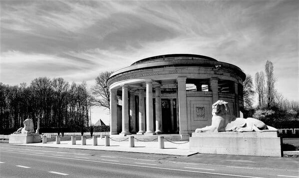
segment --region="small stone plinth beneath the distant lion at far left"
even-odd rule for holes
[[[40,135],[38,133],[15,133],[9,135],[9,143],[39,143]]]

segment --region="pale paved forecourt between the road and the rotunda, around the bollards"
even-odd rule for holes
[[[56,144],[55,141],[47,143],[26,143],[18,145],[30,146],[44,146],[44,147],[64,147],[64,148],[77,148],[77,149],[93,149],[93,150],[112,150],[112,151],[126,151],[126,152],[143,152],[155,154],[172,154],[172,155],[193,155],[197,152],[189,151],[189,142],[175,141],[175,143],[164,140],[164,148],[159,148],[158,141],[136,141],[134,139],[134,147],[129,147],[129,141],[113,141],[110,139],[110,146],[105,146],[105,138],[97,138],[98,145],[92,145],[91,138],[86,139],[86,145],[81,145],[81,140],[77,140],[76,144],[71,144],[71,141],[60,141]],[[182,144],[176,144],[182,143]]]

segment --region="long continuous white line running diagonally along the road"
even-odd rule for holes
[[[38,155],[38,154],[21,153],[21,152],[13,152],[13,151],[0,151],[0,152],[11,152],[11,153],[27,154],[27,155]],[[89,162],[108,163],[108,164],[117,164],[117,165],[127,165],[127,166],[134,166],[134,167],[146,167],[146,168],[155,168],[155,169],[184,171],[184,172],[196,172],[196,173],[228,175],[228,176],[236,176],[236,177],[249,177],[249,178],[264,178],[264,177],[247,176],[247,175],[236,175],[236,174],[226,174],[226,173],[216,173],[216,172],[203,172],[203,171],[196,171],[196,170],[185,170],[185,169],[176,169],[176,168],[154,167],[154,166],[136,165],[136,164],[125,164],[125,163],[117,163],[117,162],[105,162],[105,161],[97,161],[97,160],[76,159],[76,158],[70,158],[70,157],[55,157],[55,156],[49,156],[49,155],[39,155],[39,156],[54,157],[54,158],[61,158],[61,159],[82,160],[82,161],[89,161]]]

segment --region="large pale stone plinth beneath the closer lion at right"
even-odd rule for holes
[[[283,141],[271,132],[200,132],[192,133],[190,151],[210,154],[283,156]]]

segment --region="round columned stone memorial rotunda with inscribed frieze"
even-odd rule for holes
[[[243,108],[245,73],[236,65],[196,54],[138,60],[107,80],[110,134],[191,134],[212,122],[212,104]]]

